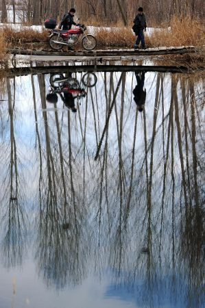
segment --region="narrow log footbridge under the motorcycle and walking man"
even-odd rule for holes
[[[184,53],[195,53],[197,48],[194,46],[181,46],[181,47],[157,47],[148,49],[99,49],[94,51],[51,51],[51,50],[36,50],[36,49],[21,49],[21,48],[8,48],[7,53],[13,55],[49,55],[49,56],[69,56],[69,57],[126,57],[138,55],[176,55]]]

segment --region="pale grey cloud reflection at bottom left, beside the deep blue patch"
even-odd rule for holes
[[[15,308],[134,308],[132,303],[123,303],[121,299],[104,298],[107,279],[95,280],[91,277],[75,288],[53,292],[42,283],[36,274],[32,261],[26,260],[21,269],[7,272],[0,265],[0,307],[10,308],[12,300]],[[16,280],[16,295],[12,296],[12,280]]]

